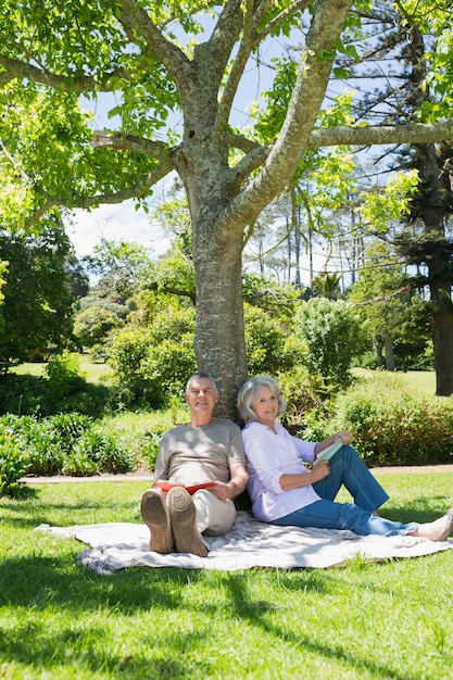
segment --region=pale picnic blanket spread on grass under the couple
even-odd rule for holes
[[[77,558],[98,574],[112,574],[128,567],[179,567],[237,571],[252,567],[326,568],[339,567],[361,555],[370,561],[419,557],[453,549],[453,540],[437,542],[412,536],[358,537],[352,531],[277,527],[254,519],[241,511],[232,529],[221,537],[205,537],[207,557],[189,553],[160,555],[148,550],[149,530],[144,524],[110,522],[51,527],[40,525],[62,538],[75,538],[90,547]]]

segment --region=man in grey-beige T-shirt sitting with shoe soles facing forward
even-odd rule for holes
[[[161,440],[154,486],[141,500],[151,551],[206,557],[202,534],[221,536],[234,525],[232,499],[246,489],[248,475],[239,427],[213,416],[218,398],[209,374],[192,375],[186,388],[190,423]]]

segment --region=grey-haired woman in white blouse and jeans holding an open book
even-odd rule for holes
[[[270,376],[250,378],[238,394],[238,410],[246,423],[242,439],[254,516],[280,526],[349,529],[357,534],[415,536],[444,541],[453,531],[453,507],[436,521],[402,524],[380,517],[377,508],[389,496],[349,445],[343,430],[322,442],[293,437],[277,421],[286,403]],[[319,454],[338,439],[343,445],[329,461]],[[337,503],[344,486],[353,503]]]

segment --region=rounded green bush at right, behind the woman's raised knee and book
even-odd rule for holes
[[[353,445],[367,465],[452,463],[453,401],[414,392],[401,377],[377,374],[362,378],[340,394],[335,417],[304,430],[316,440],[334,431],[353,432]]]

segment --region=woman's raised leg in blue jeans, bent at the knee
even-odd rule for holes
[[[354,504],[366,511],[373,512],[389,500],[389,494],[352,446],[342,446],[337,451],[329,461],[329,467],[330,474],[313,484],[322,499],[334,501],[341,486],[344,486]]]

